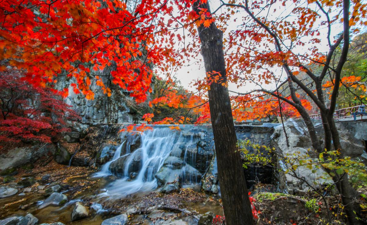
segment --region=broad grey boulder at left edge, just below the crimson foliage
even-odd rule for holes
[[[17,147],[0,155],[0,170],[33,163],[47,152],[54,150],[53,144],[34,145],[32,147]]]

